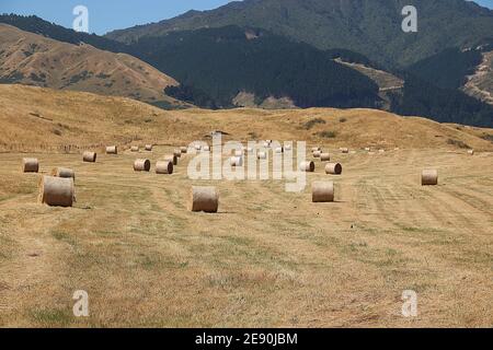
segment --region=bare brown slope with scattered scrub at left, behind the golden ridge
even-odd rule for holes
[[[5,24],[0,24],[0,82],[183,105],[163,93],[177,82],[135,57],[60,43]]]

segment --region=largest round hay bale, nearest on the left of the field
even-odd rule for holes
[[[43,176],[39,201],[51,207],[71,207],[74,200],[73,178]]]

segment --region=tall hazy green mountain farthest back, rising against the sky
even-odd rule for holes
[[[493,33],[493,11],[465,0],[415,0],[419,32],[401,30],[406,0],[245,0],[211,11],[115,31],[107,38],[133,43],[173,31],[252,26],[320,49],[345,48],[386,66],[408,66],[449,47],[471,47]],[[467,28],[467,30],[465,30]]]

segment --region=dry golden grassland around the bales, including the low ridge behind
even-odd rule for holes
[[[492,130],[363,109],[163,112],[37,88],[0,92],[0,326],[493,326],[493,143],[481,138]],[[58,124],[61,135],[51,132]],[[317,162],[308,183],[334,180],[336,201],[312,203],[310,186],[289,194],[282,180],[191,180],[193,155],[171,176],[134,173],[137,156],[154,164],[215,129],[322,145],[343,175]],[[158,145],[81,162],[87,145],[108,142]],[[42,174],[76,171],[73,208],[37,203],[42,174],[21,173],[26,155]],[[439,185],[422,187],[429,167]],[[217,186],[217,214],[186,210],[192,185]],[[76,290],[89,293],[88,318],[72,315]],[[401,315],[404,290],[417,292],[415,318]]]

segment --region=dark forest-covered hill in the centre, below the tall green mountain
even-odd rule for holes
[[[264,31],[175,32],[141,38],[130,52],[208,95],[218,107],[231,107],[242,92],[252,93],[257,104],[287,97],[298,107],[372,107],[378,101],[378,86],[364,74],[309,45]]]

